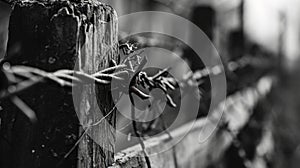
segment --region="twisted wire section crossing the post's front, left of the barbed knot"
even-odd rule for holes
[[[74,70],[58,70],[53,73],[29,66],[11,66],[3,63],[1,69],[0,100],[9,98],[32,121],[36,121],[33,110],[27,106],[17,95],[35,86],[38,83],[54,82],[61,87],[73,87],[78,84],[110,84],[110,80],[123,80],[127,71],[118,71],[125,65],[115,65],[95,74],[89,75]],[[112,72],[112,73],[111,73]]]

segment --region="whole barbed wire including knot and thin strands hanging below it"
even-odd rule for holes
[[[30,119],[31,122],[36,122],[38,118],[36,117],[35,112],[18,97],[20,93],[26,92],[26,90],[34,87],[36,84],[46,83],[55,84],[62,88],[72,88],[74,86],[84,84],[109,85],[112,80],[117,80],[122,81],[121,83],[130,83],[129,90],[126,88],[127,85],[118,86],[116,89],[119,89],[122,94],[129,94],[132,102],[134,101],[132,99],[133,94],[141,99],[149,99],[151,97],[150,94],[139,89],[140,87],[148,91],[158,88],[165,93],[167,104],[175,108],[177,105],[172,96],[169,95],[169,91],[174,91],[176,88],[185,90],[187,88],[199,87],[203,83],[203,80],[208,76],[217,76],[227,71],[235,72],[248,65],[261,67],[269,64],[269,60],[264,60],[264,58],[242,57],[236,61],[228,62],[228,64],[224,65],[224,67],[223,65],[216,65],[213,67],[205,67],[204,69],[197,70],[195,72],[188,72],[182,77],[182,79],[176,80],[168,75],[168,70],[170,70],[169,67],[159,71],[153,76],[150,76],[147,72],[143,71],[142,69],[147,63],[147,59],[146,57],[141,56],[143,50],[139,51],[136,44],[129,42],[121,44],[120,51],[122,51],[125,56],[122,58],[121,63],[117,64],[115,61],[112,61],[112,67],[94,74],[87,74],[70,69],[46,72],[42,69],[29,66],[10,65],[9,62],[2,61],[0,69],[0,100],[10,99],[12,103],[14,103]],[[132,105],[134,105],[134,103],[132,103]],[[79,136],[74,146],[64,155],[63,159],[66,159],[74,151],[74,149],[76,149],[76,146],[92,127],[103,122],[106,117],[115,110],[115,108],[116,106],[114,106],[110,112],[95,123],[90,123],[88,126],[85,126],[85,131]],[[131,108],[132,116],[136,117],[134,114],[134,107]],[[138,131],[134,118],[132,120],[132,125],[134,133],[139,138],[139,143],[145,153],[147,165],[148,167],[151,167],[149,158],[145,151],[145,145],[143,144],[143,137]],[[170,134],[169,136],[172,138]],[[61,162],[63,162],[63,159]]]

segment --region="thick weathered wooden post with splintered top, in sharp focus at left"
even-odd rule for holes
[[[117,16],[111,7],[91,0],[21,0],[14,5],[5,58],[11,64],[50,72],[77,67],[94,73],[107,68],[112,59],[118,61],[118,39]],[[82,86],[92,95],[81,94],[73,102],[70,89],[50,85],[39,84],[20,95],[36,112],[37,123],[31,123],[9,101],[1,102],[0,167],[111,165],[115,112],[107,117],[108,122],[84,135],[78,154],[75,150],[66,155],[83,132],[79,121],[87,126],[99,119],[93,111],[98,106],[103,116],[112,109],[109,86]]]

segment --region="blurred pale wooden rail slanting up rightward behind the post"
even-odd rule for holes
[[[179,167],[207,167],[212,163],[218,163],[229,145],[235,141],[236,135],[248,123],[253,108],[265,98],[274,83],[275,78],[263,77],[256,86],[246,88],[222,102],[208,120],[199,119],[195,123],[188,123],[171,131],[170,134],[175,140],[184,136],[178,144],[174,144],[174,140],[170,140],[168,135],[146,140],[145,151],[148,153],[152,167],[175,167],[172,148],[177,149],[176,157],[180,159],[176,164]],[[221,114],[219,110],[222,110],[223,105],[225,105],[224,115],[218,122],[216,119],[220,116],[216,115]],[[207,136],[205,130],[211,130],[216,124],[218,129],[206,141],[199,143],[199,137]],[[190,127],[193,128],[186,134]],[[165,152],[157,153],[162,149],[165,149]],[[118,153],[115,160],[116,163],[110,168],[146,166],[145,154],[139,145]]]

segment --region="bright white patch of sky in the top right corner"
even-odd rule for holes
[[[279,49],[279,32],[284,33],[287,66],[297,66],[300,45],[299,0],[246,0],[245,28],[249,37],[273,52]],[[285,15],[282,22],[280,13]],[[282,15],[281,14],[281,15]]]

